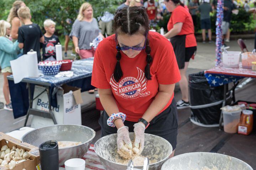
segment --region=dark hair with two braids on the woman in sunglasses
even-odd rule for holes
[[[140,33],[142,35],[148,35],[148,16],[144,7],[125,7],[116,12],[114,18],[114,30],[117,34],[127,34],[134,35]],[[147,37],[146,37],[147,38]],[[119,46],[119,44],[117,44]],[[150,74],[150,64],[152,63],[152,57],[150,55],[151,48],[149,45],[148,39],[146,40],[145,51],[147,54],[146,57],[146,67],[145,67],[145,77],[147,80],[151,80]],[[114,70],[114,79],[118,82],[123,76],[123,72],[120,65],[121,53],[120,50],[117,50],[116,53],[116,66]]]

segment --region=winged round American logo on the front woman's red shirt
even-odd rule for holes
[[[147,79],[145,73],[137,67],[138,77],[125,77],[117,83],[114,79],[114,74],[111,76],[110,85],[115,91],[115,94],[124,98],[136,98],[141,92],[147,89]]]

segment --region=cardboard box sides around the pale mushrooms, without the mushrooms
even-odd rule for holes
[[[20,140],[17,140],[9,135],[0,132],[0,148],[4,145],[7,145],[9,148],[12,148],[13,146],[15,146],[16,148],[23,148],[25,149],[25,151],[28,151],[30,155],[30,160],[26,160],[22,163],[16,164],[13,170],[35,170],[36,166],[40,163],[38,147],[35,147],[28,143],[21,143]],[[1,165],[0,170],[9,170],[9,168]]]

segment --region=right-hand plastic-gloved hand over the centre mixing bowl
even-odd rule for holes
[[[140,154],[144,149],[145,129],[146,129],[146,127],[143,123],[134,124],[134,133],[135,133],[134,146],[135,146],[135,148],[133,148],[132,151],[136,154]]]

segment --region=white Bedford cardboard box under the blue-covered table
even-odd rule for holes
[[[45,87],[36,85],[33,98],[38,96],[44,90]],[[57,103],[58,107],[52,108],[57,124],[82,125],[81,103],[83,103],[83,100],[81,96],[81,89],[63,85],[57,91]],[[46,91],[33,101],[32,108],[49,111],[49,102]],[[50,125],[54,125],[52,119],[35,115],[32,118],[32,128],[42,128]]]

